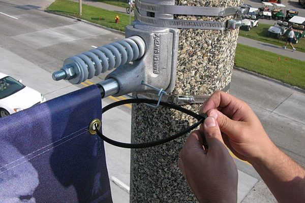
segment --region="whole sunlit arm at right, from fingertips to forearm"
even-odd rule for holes
[[[200,112],[217,118],[226,145],[255,167],[279,202],[305,202],[303,168],[272,143],[245,102],[216,91]]]

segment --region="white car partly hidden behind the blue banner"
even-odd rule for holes
[[[0,73],[0,118],[46,101],[38,91]]]

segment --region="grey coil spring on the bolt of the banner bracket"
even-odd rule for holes
[[[108,45],[86,51],[67,58],[65,65],[78,64],[80,73],[78,81],[84,82],[101,73],[112,70],[114,67],[140,59],[145,53],[145,42],[139,36],[132,36]],[[79,82],[79,83],[80,83]]]

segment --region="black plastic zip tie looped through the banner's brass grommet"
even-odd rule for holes
[[[106,111],[114,108],[114,107],[118,107],[121,105],[126,105],[126,104],[154,104],[157,105],[158,104],[158,100],[153,100],[153,99],[145,99],[145,98],[132,98],[132,99],[125,99],[125,100],[120,100],[120,101],[116,101],[115,103],[112,103],[110,105],[107,105],[106,107],[104,107],[102,109],[102,114],[105,113]],[[204,119],[207,117],[206,114],[196,114],[188,109],[185,109],[183,107],[174,105],[174,104],[169,104],[169,103],[164,103],[164,102],[160,102],[160,106],[164,106],[164,107],[168,107],[170,109],[175,109],[177,111],[180,111],[182,113],[188,114],[194,118],[196,118],[198,120],[197,123],[187,127],[186,129],[174,134],[173,136],[170,136],[168,138],[164,138],[155,142],[149,142],[149,143],[138,143],[138,144],[134,144],[134,143],[121,143],[121,142],[117,142],[114,140],[111,140],[107,137],[104,136],[103,132],[102,132],[102,128],[101,130],[98,130],[97,126],[96,126],[96,132],[98,134],[98,136],[104,140],[105,142],[117,146],[117,147],[121,147],[121,148],[129,148],[129,149],[141,149],[141,148],[148,148],[148,147],[155,147],[158,145],[162,145],[164,143],[170,142],[176,138],[179,138],[181,136],[183,136],[184,134],[190,132],[191,130],[193,130],[194,128],[196,128],[198,125],[200,125]]]

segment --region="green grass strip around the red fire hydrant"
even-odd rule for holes
[[[100,9],[93,6],[82,4],[82,15],[78,15],[78,3],[68,0],[56,0],[48,8],[47,11],[59,13],[67,16],[74,16],[89,22],[93,22],[112,29],[125,31],[126,25],[129,24],[129,15]],[[115,23],[115,16],[119,16],[119,23]],[[131,17],[131,22],[134,17]]]

